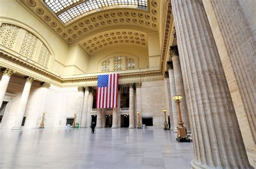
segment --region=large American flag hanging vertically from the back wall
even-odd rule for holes
[[[97,109],[117,107],[118,78],[117,73],[98,76]]]

